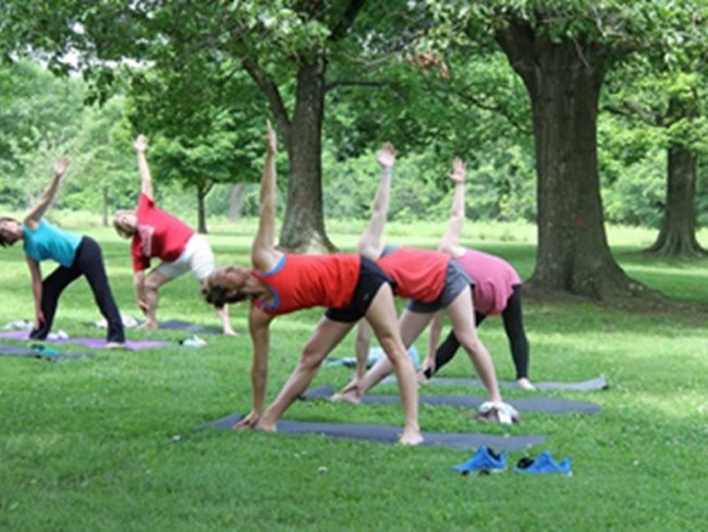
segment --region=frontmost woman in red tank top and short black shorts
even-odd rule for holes
[[[404,427],[400,442],[423,442],[418,427],[415,370],[398,330],[390,279],[370,259],[354,254],[296,255],[276,250],[276,134],[268,124],[266,164],[260,182],[258,231],[251,250],[253,269],[221,268],[203,291],[212,304],[252,300],[253,408],[236,427],[274,431],[282,413],[315,377],[325,358],[362,317],[371,324],[399,378]],[[264,410],[272,319],[301,309],[327,306],[303,349],[297,367]]]

